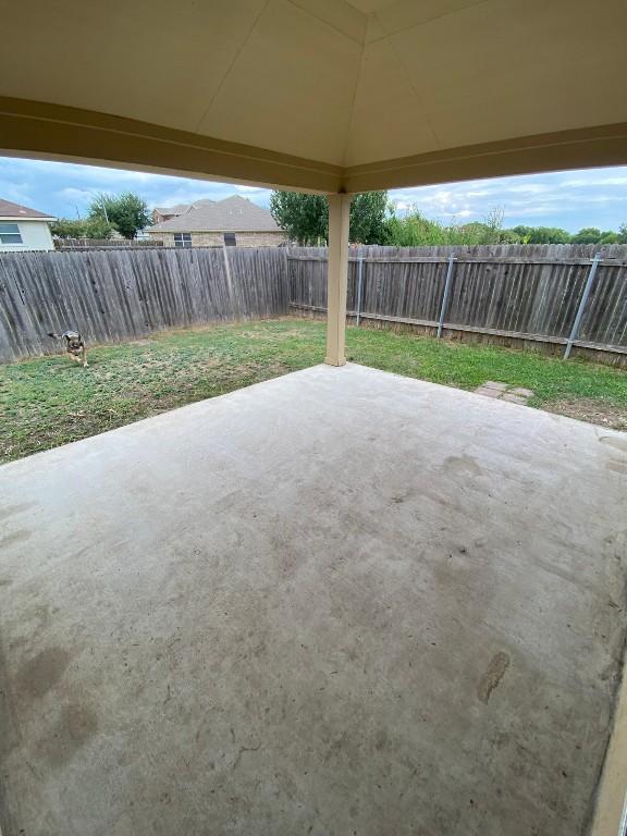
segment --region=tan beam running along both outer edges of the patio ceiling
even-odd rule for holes
[[[79,108],[0,97],[2,153],[300,192],[357,193],[627,163],[627,122],[341,167]]]

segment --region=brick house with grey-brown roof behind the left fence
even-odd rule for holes
[[[157,208],[146,232],[165,247],[275,247],[287,242],[267,209],[234,195],[224,200]]]

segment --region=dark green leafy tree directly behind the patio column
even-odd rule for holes
[[[351,242],[383,244],[386,207],[386,192],[354,195],[351,201]],[[299,244],[316,245],[329,237],[329,204],[321,195],[272,192],[270,211],[279,226]]]

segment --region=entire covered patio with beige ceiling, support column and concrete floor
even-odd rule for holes
[[[352,194],[627,163],[626,15],[7,7],[1,153],[330,223],[324,366],[0,469],[3,836],[623,836],[625,437],[344,331]]]

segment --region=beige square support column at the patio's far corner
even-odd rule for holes
[[[327,357],[344,366],[346,290],[348,284],[348,219],[351,195],[329,195],[329,263],[327,272]]]

